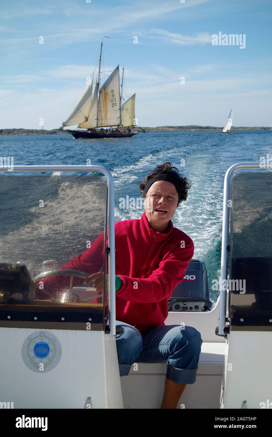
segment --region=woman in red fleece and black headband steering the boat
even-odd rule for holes
[[[167,361],[161,408],[176,408],[186,384],[196,380],[202,344],[195,328],[164,324],[168,300],[194,252],[193,241],[171,221],[190,184],[166,162],[151,170],[139,187],[146,207],[141,218],[115,223],[116,324],[124,329],[116,335],[120,376],[128,375],[134,362]],[[96,271],[85,285],[93,281],[99,291],[103,273],[92,270],[92,260],[88,249],[61,268]]]

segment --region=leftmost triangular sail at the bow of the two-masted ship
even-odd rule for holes
[[[62,123],[62,127],[77,125],[83,121],[87,121],[90,112],[90,105],[92,101],[92,91],[93,91],[93,75],[91,77],[90,83],[87,84],[85,90],[81,94],[79,101],[77,102],[74,110],[70,116]]]

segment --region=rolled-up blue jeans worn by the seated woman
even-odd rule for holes
[[[116,335],[120,376],[128,375],[133,363],[166,363],[166,378],[176,384],[193,384],[201,352],[200,333],[192,326],[151,326],[143,333],[128,323],[116,321],[124,333]]]

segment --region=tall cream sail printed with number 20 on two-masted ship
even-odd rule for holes
[[[99,127],[121,124],[119,65],[100,88],[98,121]]]

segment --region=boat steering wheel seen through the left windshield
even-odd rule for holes
[[[38,287],[38,285],[36,285],[37,282],[41,282],[43,279],[45,279],[45,277],[48,277],[48,276],[70,276],[69,291],[65,291],[64,293],[62,293],[60,301],[56,300],[55,296],[53,296],[51,293],[49,293],[49,291],[46,291],[44,288],[41,289]],[[62,302],[62,303],[78,302],[78,295],[74,291],[72,291],[73,278],[74,277],[81,277],[83,279],[86,279],[89,276],[90,276],[90,273],[85,273],[85,272],[81,272],[78,270],[55,269],[55,270],[50,270],[50,271],[42,272],[42,273],[38,274],[37,276],[34,277],[33,282],[34,282],[36,288],[43,291],[46,295],[50,296],[52,298],[52,301],[54,301],[54,302]],[[102,293],[100,295],[93,296],[92,298],[85,299],[83,302],[91,301],[91,300],[99,298],[101,296],[102,296]]]

